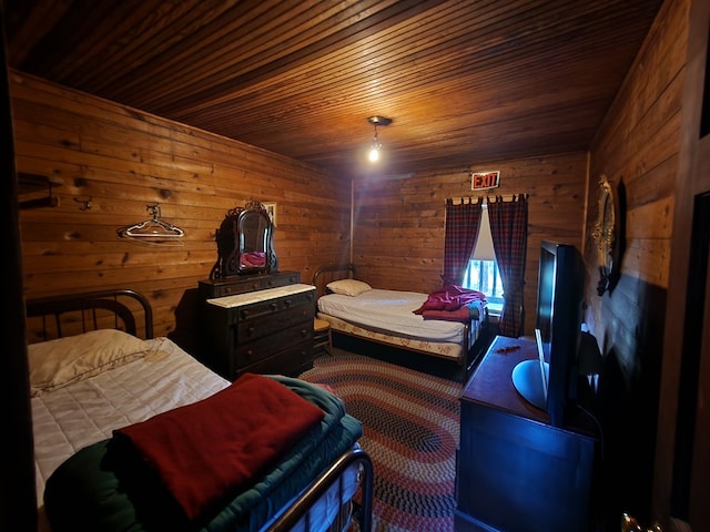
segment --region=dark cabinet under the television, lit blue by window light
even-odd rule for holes
[[[460,398],[457,532],[589,532],[594,529],[595,423],[564,428],[513,386],[513,368],[537,359],[535,341],[497,336]]]

